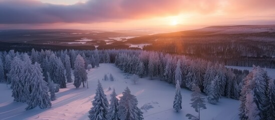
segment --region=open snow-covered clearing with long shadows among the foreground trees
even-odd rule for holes
[[[112,73],[114,81],[104,81],[104,74],[108,76]],[[112,90],[115,88],[118,96],[128,86],[131,93],[137,96],[138,107],[144,104],[152,105],[153,108],[142,110],[144,119],[187,119],[187,113],[197,115],[197,112],[189,104],[191,91],[181,89],[182,109],[176,112],[173,109],[175,86],[165,81],[155,78],[140,78],[137,84],[133,84],[130,79],[124,78],[124,73],[114,64],[100,64],[100,67],[88,71],[89,88],[82,85],[75,88],[73,83],[67,83],[67,88],[60,89],[56,93],[57,100],[52,101],[52,107],[25,110],[26,103],[15,102],[12,97],[10,85],[0,84],[2,97],[0,98],[0,119],[88,119],[88,111],[92,107],[92,100],[95,95],[97,80],[100,79],[108,100]],[[86,84],[85,84],[86,85]],[[216,105],[206,101],[207,109],[201,111],[201,119],[238,119],[239,101],[222,97]]]

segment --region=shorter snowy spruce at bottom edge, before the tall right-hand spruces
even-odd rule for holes
[[[257,108],[257,105],[255,104],[254,93],[252,90],[248,91],[246,94],[246,100],[245,100],[245,110],[246,110],[246,116],[247,118],[253,119],[253,120],[260,120],[259,116],[259,109]]]

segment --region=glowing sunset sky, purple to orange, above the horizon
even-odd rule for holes
[[[275,24],[275,0],[0,0],[0,29]]]

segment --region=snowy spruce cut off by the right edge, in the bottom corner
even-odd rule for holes
[[[275,119],[275,85],[274,80],[270,79],[268,81],[268,90],[267,90],[267,97],[265,99],[265,110],[267,120]]]

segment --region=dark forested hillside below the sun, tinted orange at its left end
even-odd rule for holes
[[[274,33],[156,37],[143,50],[185,54],[225,65],[275,68]]]

